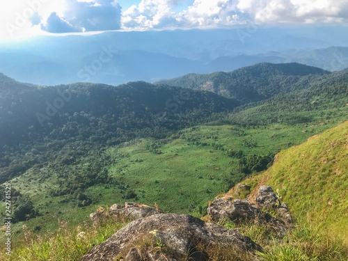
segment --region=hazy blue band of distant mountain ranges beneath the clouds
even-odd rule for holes
[[[1,42],[0,72],[40,85],[118,85],[262,62],[297,62],[338,71],[348,67],[347,42],[345,26],[37,36]]]

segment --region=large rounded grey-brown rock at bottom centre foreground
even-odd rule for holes
[[[148,246],[152,242],[153,246]],[[151,241],[152,240],[152,241]],[[158,245],[166,251],[159,251]],[[198,247],[199,246],[199,247]],[[219,247],[219,251],[239,249],[244,254],[262,251],[250,238],[236,230],[205,223],[189,215],[156,214],[137,219],[120,229],[102,244],[90,250],[81,261],[113,261],[118,255],[139,260],[208,260],[207,250]],[[139,248],[138,250],[134,247]]]

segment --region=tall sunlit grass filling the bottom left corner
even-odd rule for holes
[[[93,246],[104,242],[116,233],[125,223],[111,220],[100,227],[84,226],[71,228],[68,222],[61,221],[56,232],[35,235],[33,230],[24,226],[24,237],[13,244],[11,255],[5,251],[0,253],[0,260],[13,261],[66,261],[79,260]]]

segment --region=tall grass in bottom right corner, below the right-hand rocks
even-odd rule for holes
[[[347,261],[348,248],[342,239],[327,237],[320,226],[308,221],[297,221],[293,228],[280,238],[273,230],[255,223],[236,225],[230,221],[219,223],[228,229],[237,228],[242,235],[264,249],[258,260],[264,261]]]

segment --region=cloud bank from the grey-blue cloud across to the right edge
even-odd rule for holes
[[[139,0],[122,13],[117,0],[62,0],[40,27],[50,33],[209,29],[239,24],[348,22],[348,0]],[[181,8],[181,9],[180,9]],[[40,16],[32,18],[38,24]]]

